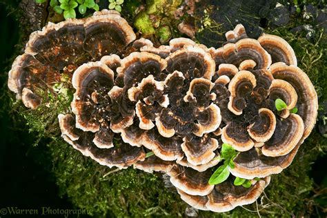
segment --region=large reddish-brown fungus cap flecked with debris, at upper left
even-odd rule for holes
[[[82,63],[119,53],[134,40],[132,28],[115,10],[95,12],[86,19],[48,23],[30,34],[25,53],[12,65],[8,87],[17,93],[17,99],[21,99],[23,88],[37,95],[37,89],[60,82],[62,71],[70,75]],[[36,108],[35,103],[29,106]]]

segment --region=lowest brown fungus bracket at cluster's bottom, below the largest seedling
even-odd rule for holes
[[[207,191],[204,190],[201,183],[205,177],[205,172],[201,172],[202,175],[199,177],[199,172],[184,168],[182,172],[179,172],[180,175],[174,176],[175,170],[179,172],[177,168],[173,168],[170,173],[170,181],[177,187],[177,192],[181,195],[181,199],[199,210],[211,210],[214,212],[226,212],[237,206],[252,204],[270,182],[270,177],[265,177],[259,181],[252,180],[250,188],[244,188],[243,186],[234,186],[232,180],[235,177],[230,177],[224,183],[215,185],[213,189],[209,186],[210,189]],[[193,187],[193,182],[201,185]],[[200,192],[200,190],[202,190],[200,195],[194,195],[196,192]],[[208,194],[203,195],[204,192]]]

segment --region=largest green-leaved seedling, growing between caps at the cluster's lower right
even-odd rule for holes
[[[220,152],[220,159],[224,159],[224,164],[219,166],[217,170],[211,175],[209,179],[209,184],[217,185],[221,184],[222,182],[226,181],[230,175],[229,168],[235,168],[235,164],[233,159],[236,157],[238,152],[232,148],[232,146],[228,145],[228,143],[223,143]]]

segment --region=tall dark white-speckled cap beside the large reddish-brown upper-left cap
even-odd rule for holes
[[[84,63],[73,77],[72,86],[76,89],[71,103],[76,115],[77,128],[97,132],[100,127],[108,126],[110,121],[111,99],[109,90],[114,84],[114,73],[101,62]]]

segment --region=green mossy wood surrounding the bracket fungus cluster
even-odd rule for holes
[[[23,0],[24,3],[32,4],[31,1],[33,0]],[[13,17],[15,19],[30,16],[28,15],[30,12],[24,7],[19,10],[15,9],[20,1],[5,2],[7,12],[14,13]],[[134,25],[135,31],[138,30],[139,34],[144,34],[146,37],[157,41],[157,43],[166,43],[170,37],[180,36],[177,24],[182,19],[195,19],[195,26],[197,26],[196,39],[207,44],[207,46],[220,46],[221,41],[219,40],[222,40],[222,38],[217,38],[217,36],[224,37],[224,32],[226,32],[224,26],[234,25],[234,23],[230,23],[228,17],[225,20],[221,17],[216,19],[216,13],[220,12],[229,16],[230,12],[219,11],[226,9],[224,9],[224,6],[217,7],[217,4],[213,3],[213,1],[206,1],[206,5],[199,5],[200,8],[205,10],[199,10],[198,14],[196,12],[194,15],[186,13],[179,21],[169,11],[176,10],[183,2],[169,1],[168,8],[165,7],[167,2],[165,0],[126,0],[122,5],[122,14],[128,18],[130,24]],[[228,1],[229,4],[232,4],[232,2],[234,1]],[[244,4],[244,7],[247,4],[245,1],[237,2],[240,2],[241,5],[240,8],[235,10],[235,13],[241,10],[242,4]],[[270,10],[276,10],[275,1],[259,1],[258,3],[262,5],[260,5],[261,8],[264,8],[264,6],[266,9],[268,8],[266,15],[251,14],[251,10],[245,8],[243,10],[243,13],[246,14],[244,22],[252,23],[253,28],[261,26],[261,28],[264,28],[264,32],[277,34],[286,39],[295,50],[299,67],[313,81],[319,96],[319,102],[326,100],[326,30],[325,33],[324,30],[321,30],[317,17],[307,18],[304,16],[308,3],[297,1],[295,5],[295,1],[285,1],[284,6],[287,10],[291,10],[291,7],[294,6],[295,10],[300,8],[300,11],[290,12],[289,21],[283,26],[278,26],[278,23],[265,23],[267,17],[273,16],[271,15],[273,12],[270,12]],[[319,10],[324,7],[321,1],[313,1],[312,3]],[[106,2],[102,0],[99,1],[99,5],[100,7],[107,6]],[[40,8],[37,10],[41,14],[43,13]],[[257,10],[253,9],[253,11],[256,12]],[[212,14],[213,12],[215,14]],[[30,132],[27,134],[30,139],[26,139],[30,144],[29,146],[31,146],[30,149],[36,149],[32,147],[33,145],[38,146],[37,149],[40,149],[41,154],[43,154],[39,155],[37,153],[37,157],[36,155],[32,157],[43,164],[44,168],[53,175],[61,196],[68,196],[68,199],[75,207],[86,208],[92,212],[91,215],[115,217],[184,217],[191,215],[192,212],[195,212],[199,217],[323,215],[324,210],[326,210],[324,209],[326,208],[326,198],[321,194],[326,190],[326,184],[325,186],[323,183],[315,184],[313,177],[310,176],[313,163],[327,152],[327,139],[319,135],[317,128],[313,130],[310,137],[300,147],[293,164],[281,174],[272,176],[270,186],[256,203],[220,214],[190,209],[184,201],[179,199],[179,195],[174,188],[165,186],[164,175],[159,173],[151,175],[132,168],[127,170],[110,169],[100,166],[87,157],[83,157],[61,139],[57,124],[59,112],[68,112],[66,108],[72,97],[72,87],[69,81],[63,79],[61,83],[54,87],[54,91],[43,93],[43,97],[50,99],[50,104],[41,105],[34,111],[26,109],[21,102],[16,102],[6,86],[8,70],[10,70],[13,58],[21,53],[30,32],[40,28],[41,24],[34,24],[45,23],[58,17],[49,7],[46,8],[45,13],[46,17],[38,17],[34,23],[30,23],[30,19],[21,23],[19,42],[14,47],[15,52],[12,59],[6,60],[6,73],[1,74],[0,77],[0,117],[3,120],[6,118],[6,123],[10,123],[8,128],[12,131]],[[154,17],[160,20],[159,24],[154,22]],[[60,19],[62,18],[57,20]],[[218,23],[218,21],[224,21],[225,23]],[[311,25],[313,31],[297,28],[307,24]],[[298,29],[299,31],[296,31]],[[259,30],[260,33],[261,29]],[[206,31],[208,33],[204,34]],[[119,141],[116,141],[116,143],[119,143]],[[31,152],[31,154],[34,155],[35,153]]]

